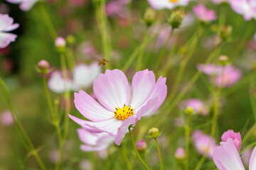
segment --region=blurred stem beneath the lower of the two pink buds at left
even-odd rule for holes
[[[50,93],[49,93],[48,84],[47,84],[47,81],[46,81],[46,74],[43,74],[43,87],[45,89],[46,100],[48,102],[48,107],[50,109],[50,114],[51,114],[51,117],[53,119],[53,125],[55,126],[55,129],[56,129],[57,135],[58,135],[59,158],[58,158],[58,162],[56,163],[56,166],[55,166],[55,169],[58,170],[58,169],[63,168],[63,138],[62,138],[62,134],[61,134],[61,130],[60,130],[60,120],[58,118],[58,112],[55,112],[53,110],[53,105],[52,105],[52,102],[50,100]]]

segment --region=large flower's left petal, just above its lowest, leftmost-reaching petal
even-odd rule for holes
[[[99,122],[114,118],[114,113],[100,106],[100,104],[89,94],[86,94],[85,91],[80,90],[79,93],[75,93],[74,102],[75,108],[87,119]]]

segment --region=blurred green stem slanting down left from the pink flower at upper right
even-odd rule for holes
[[[167,100],[172,101],[174,99],[174,96],[176,95],[176,92],[178,91],[178,86],[181,83],[181,79],[183,77],[184,70],[186,69],[186,65],[188,64],[188,61],[191,59],[193,52],[196,50],[196,45],[198,44],[198,40],[201,37],[203,33],[202,26],[199,26],[197,29],[195,35],[193,35],[193,40],[191,42],[191,46],[188,49],[188,54],[181,59],[181,66],[178,69],[178,74],[176,76],[176,79],[174,81],[174,86],[171,89],[171,94],[168,96]]]

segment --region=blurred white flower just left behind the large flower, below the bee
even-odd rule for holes
[[[92,81],[100,74],[101,68],[96,62],[92,64],[78,64],[74,68],[73,79],[65,80],[60,71],[55,71],[51,74],[48,81],[48,86],[51,91],[62,94],[65,88],[68,91],[78,91],[82,88],[88,88],[92,85]]]

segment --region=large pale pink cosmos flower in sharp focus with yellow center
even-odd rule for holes
[[[89,120],[69,116],[85,130],[114,136],[114,142],[120,145],[129,125],[136,125],[142,116],[161,106],[167,86],[166,78],[156,81],[154,73],[146,69],[134,74],[130,96],[125,74],[119,69],[107,69],[93,81],[93,91],[100,103],[85,91],[75,93],[75,107]]]

